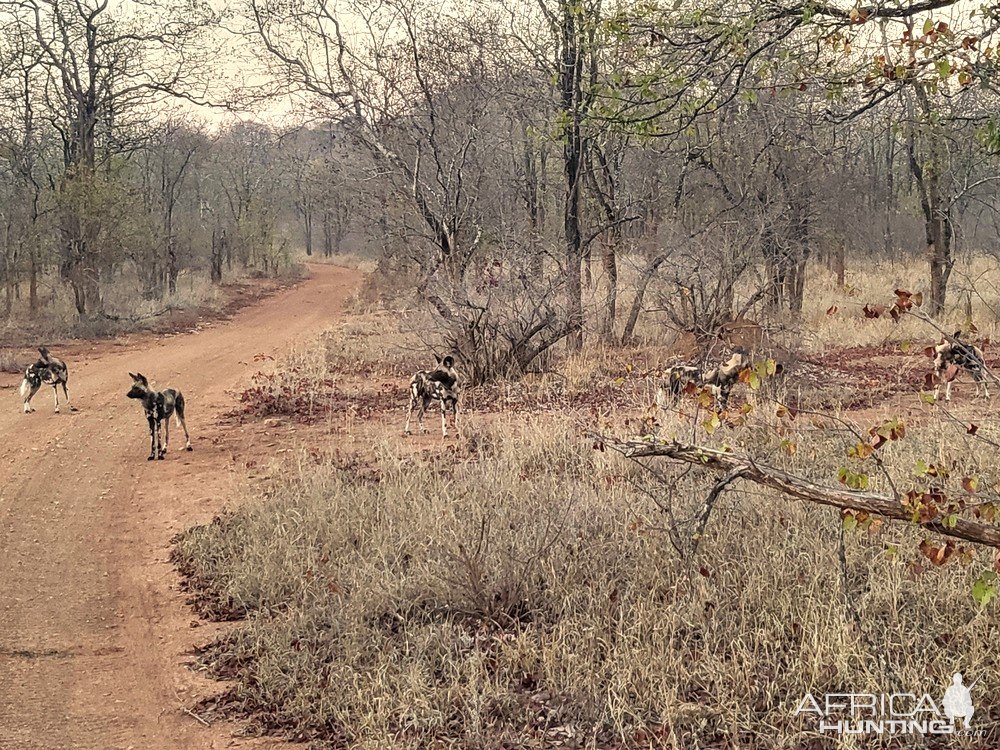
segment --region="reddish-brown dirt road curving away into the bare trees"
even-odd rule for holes
[[[15,378],[2,376],[0,749],[247,744],[185,713],[219,690],[183,666],[215,626],[193,622],[169,540],[222,507],[245,451],[267,449],[266,434],[217,424],[259,369],[253,356],[321,331],[357,282],[316,266],[301,285],[198,332],[77,348],[67,356],[73,413],[53,414],[46,386],[37,412],[21,414]],[[167,459],[146,461],[141,407],[125,399],[129,371],[184,391],[193,453],[177,450],[175,431]]]

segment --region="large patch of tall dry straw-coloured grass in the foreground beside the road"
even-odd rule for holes
[[[851,535],[845,581],[836,514],[737,490],[682,557],[644,475],[572,424],[468,446],[303,461],[184,535],[202,610],[247,617],[204,656],[233,706],[335,747],[777,748],[813,746],[806,691],[1000,689],[974,566],[915,576],[886,556],[912,529]],[[704,483],[681,487],[678,518]]]

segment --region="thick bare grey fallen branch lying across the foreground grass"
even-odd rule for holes
[[[670,458],[725,473],[733,478],[746,479],[811,503],[830,505],[844,510],[862,510],[895,521],[913,523],[913,513],[907,510],[896,498],[873,492],[855,492],[846,488],[816,484],[781,469],[757,463],[749,456],[739,453],[730,453],[677,441],[618,441],[605,436],[599,436],[599,440],[608,448],[618,451],[628,458]],[[956,519],[954,526],[945,526],[941,517],[919,525],[944,536],[1000,548],[1000,527],[975,523],[964,518]]]

